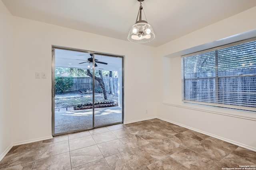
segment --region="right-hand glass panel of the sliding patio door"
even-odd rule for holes
[[[95,55],[94,125],[122,122],[122,58]],[[107,64],[106,64],[107,63]]]

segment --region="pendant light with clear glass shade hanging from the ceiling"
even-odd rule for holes
[[[147,21],[142,20],[141,16],[142,16],[142,10],[143,10],[143,7],[142,7],[143,0],[138,0],[138,1],[140,1],[140,9],[138,12],[136,22],[134,25],[132,25],[129,31],[128,40],[133,43],[148,43],[155,38],[155,33],[153,31],[152,26],[148,24]]]

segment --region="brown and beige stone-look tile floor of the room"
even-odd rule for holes
[[[14,146],[0,169],[224,170],[244,165],[256,169],[256,152],[150,119]]]

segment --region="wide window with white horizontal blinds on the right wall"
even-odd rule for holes
[[[256,39],[182,57],[182,100],[256,111]]]

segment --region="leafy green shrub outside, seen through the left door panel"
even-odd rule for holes
[[[72,77],[55,77],[55,91],[56,93],[63,93],[73,85]]]

